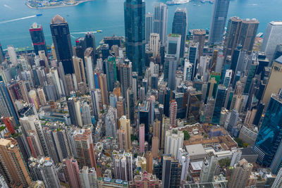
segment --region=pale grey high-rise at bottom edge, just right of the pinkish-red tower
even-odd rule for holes
[[[81,187],[97,187],[97,173],[94,168],[88,168],[87,166],[83,166],[83,168],[79,170],[79,177]]]

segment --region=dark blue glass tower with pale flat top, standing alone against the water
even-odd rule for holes
[[[176,8],[173,17],[172,33],[181,35],[180,58],[184,56],[188,18],[186,8]]]

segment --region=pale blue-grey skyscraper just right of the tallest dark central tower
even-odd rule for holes
[[[168,6],[163,3],[154,5],[154,33],[159,34],[161,44],[165,45],[168,23]]]

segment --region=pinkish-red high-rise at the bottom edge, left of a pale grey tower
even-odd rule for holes
[[[68,185],[71,188],[81,187],[78,161],[76,161],[73,157],[65,158],[62,161],[62,165],[63,165],[63,173],[66,176]]]

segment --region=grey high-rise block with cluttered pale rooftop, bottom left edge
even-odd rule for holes
[[[56,165],[50,157],[30,158],[28,166],[32,180],[44,182],[46,188],[61,187]]]

